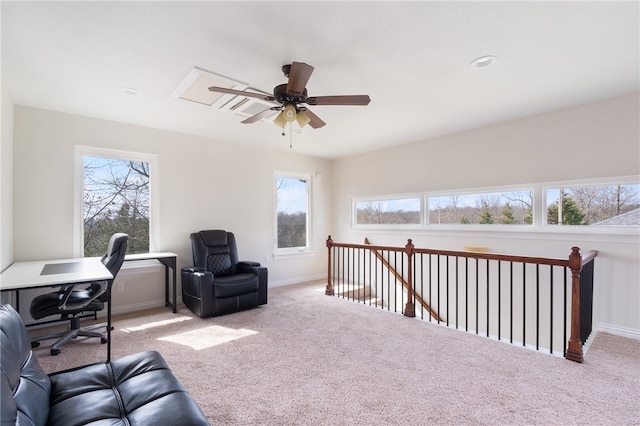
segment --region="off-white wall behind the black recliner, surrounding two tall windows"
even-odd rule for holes
[[[160,188],[158,250],[177,253],[178,268],[191,264],[191,232],[227,229],[236,234],[242,259],[269,268],[272,287],[326,273],[324,238],[331,217],[328,160],[296,155],[295,149],[274,152],[20,105],[15,106],[14,126],[16,261],[73,257],[74,146],[88,145],[159,156],[154,175]],[[310,256],[272,256],[276,170],[322,175],[312,182],[314,253]],[[126,305],[163,300],[163,269],[153,271],[157,272],[151,276],[120,272],[117,281],[126,281],[126,286],[124,294],[114,291],[115,312],[126,310]]]

